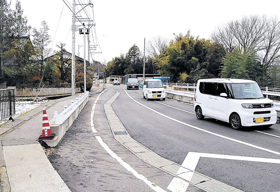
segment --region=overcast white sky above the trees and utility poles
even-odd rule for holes
[[[14,7],[16,0],[11,1]],[[72,5],[73,0],[68,2]],[[93,55],[93,58],[100,62],[105,59],[108,62],[121,53],[127,53],[134,43],[143,52],[144,37],[146,41],[158,35],[173,39],[173,33],[186,34],[191,30],[192,35],[207,39],[216,26],[245,15],[280,17],[279,0],[92,0],[92,3],[97,38],[103,52]],[[40,22],[45,20],[52,39],[63,5],[62,0],[21,0],[29,25],[40,28]],[[67,36],[71,25],[72,12],[64,5],[52,48],[65,41],[66,50],[71,52],[72,31]],[[76,55],[78,43],[83,44],[83,36],[76,32]],[[83,57],[83,47],[80,48],[80,56]]]

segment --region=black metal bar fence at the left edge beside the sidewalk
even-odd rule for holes
[[[15,114],[15,89],[0,89],[0,120]]]

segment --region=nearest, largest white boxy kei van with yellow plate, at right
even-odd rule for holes
[[[194,109],[198,119],[211,117],[233,129],[270,127],[277,119],[273,101],[264,98],[257,82],[244,79],[198,80]]]

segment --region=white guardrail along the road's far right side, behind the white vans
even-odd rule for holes
[[[164,87],[169,86],[170,84],[168,83],[168,85],[164,84]],[[172,87],[177,87],[177,88],[189,88],[189,89],[196,89],[195,86],[183,86],[183,85],[172,85]],[[275,89],[275,88],[269,88],[269,87],[260,87],[261,90],[262,89]],[[264,95],[274,95],[274,96],[280,96],[280,92],[273,92],[273,91],[264,91],[262,90],[262,93]],[[271,94],[272,92],[272,94]],[[173,90],[173,89],[165,89],[165,93],[170,93],[170,94],[174,94],[174,95],[180,95],[180,96],[186,96],[186,97],[191,97],[191,98],[195,98],[195,93],[194,92],[188,92],[188,91],[179,91],[179,90]],[[274,101],[274,105],[275,105],[275,110],[276,111],[280,111],[280,102]]]

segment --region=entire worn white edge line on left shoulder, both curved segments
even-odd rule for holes
[[[115,89],[112,89],[115,90]],[[105,91],[105,90],[104,90]],[[104,92],[103,91],[103,92]],[[115,90],[117,91],[117,90]],[[100,97],[100,95],[103,93],[101,92],[97,98],[94,101],[94,105],[92,106],[92,110],[91,110],[91,129],[93,133],[97,133],[96,129],[94,128],[94,122],[93,122],[93,117],[94,117],[94,109],[96,106],[96,103]],[[118,91],[117,91],[118,92]],[[102,138],[100,136],[95,136],[95,138],[97,139],[98,143],[103,147],[103,149],[106,150],[106,152],[109,153],[109,155],[111,155],[113,158],[115,158],[126,170],[128,170],[130,173],[132,173],[137,179],[142,180],[144,183],[146,183],[151,189],[153,189],[156,192],[167,192],[165,190],[163,190],[162,188],[160,188],[158,185],[150,182],[146,177],[144,177],[142,174],[139,174],[136,170],[134,170],[129,164],[127,164],[125,161],[123,161],[117,154],[115,154],[115,152],[113,152],[109,146],[106,145],[106,143],[104,143],[104,141],[102,140]]]

